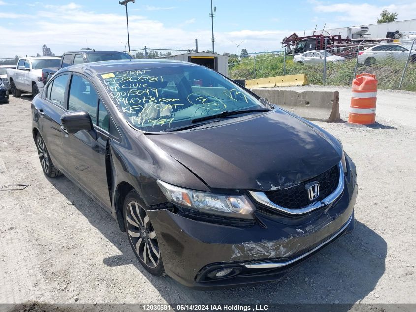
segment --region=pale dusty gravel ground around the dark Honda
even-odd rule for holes
[[[346,120],[350,93],[339,90]],[[43,175],[30,101],[0,104],[0,186],[29,184],[0,191],[1,303],[416,303],[415,93],[379,92],[382,129],[317,122],[357,165],[351,234],[285,280],[216,291],[148,274],[106,211],[64,176]]]

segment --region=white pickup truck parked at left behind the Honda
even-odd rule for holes
[[[35,96],[43,89],[42,69],[58,67],[60,63],[61,58],[54,56],[20,58],[15,69],[7,69],[11,93],[14,97],[20,97],[22,92]]]

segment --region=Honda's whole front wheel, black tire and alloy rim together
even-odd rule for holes
[[[123,204],[124,225],[128,242],[141,265],[155,276],[164,275],[158,238],[145,210],[145,203],[135,191],[130,191]]]

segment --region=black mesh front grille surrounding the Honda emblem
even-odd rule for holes
[[[339,181],[338,165],[300,184],[264,193],[276,205],[288,209],[300,209],[314,202],[309,200],[308,192],[305,189],[305,185],[313,181],[319,183],[319,196],[314,201],[320,201],[333,193],[337,188]]]

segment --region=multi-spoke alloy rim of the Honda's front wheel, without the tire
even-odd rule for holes
[[[149,268],[156,268],[160,258],[159,244],[146,211],[132,201],[127,206],[126,221],[128,238],[140,260]]]

